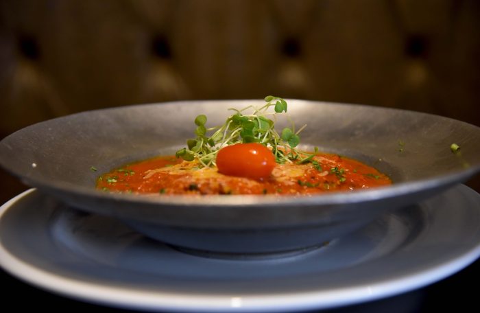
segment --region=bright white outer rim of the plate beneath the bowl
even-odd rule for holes
[[[466,188],[465,185],[458,185],[455,188]],[[28,189],[25,192],[15,196],[0,207],[0,219],[8,209],[14,208],[16,202],[24,197],[32,196],[37,189]],[[475,192],[475,194],[477,194]],[[477,194],[477,196],[480,196]],[[318,290],[309,292],[297,292],[282,294],[279,301],[278,294],[261,296],[249,296],[248,306],[245,306],[241,297],[230,297],[226,299],[221,297],[204,294],[178,294],[163,292],[145,292],[145,290],[134,291],[129,288],[111,286],[108,283],[91,283],[89,281],[77,281],[71,277],[56,275],[56,273],[45,272],[34,265],[27,264],[22,259],[6,251],[0,242],[0,265],[10,274],[14,275],[27,283],[48,290],[56,294],[71,297],[81,301],[90,301],[101,305],[110,305],[118,308],[130,308],[140,310],[172,310],[172,311],[195,311],[195,312],[213,312],[225,311],[230,309],[250,311],[261,310],[263,312],[278,310],[308,310],[308,309],[326,309],[341,305],[349,305],[365,301],[372,301],[389,297],[427,286],[430,283],[439,281],[453,275],[457,271],[465,268],[472,262],[475,262],[480,255],[480,243],[477,246],[470,246],[468,253],[454,257],[449,262],[439,264],[420,273],[410,273],[401,278],[392,281],[376,281],[369,286],[355,286],[351,288],[334,288],[328,292]],[[54,283],[53,283],[54,282]],[[73,289],[72,289],[73,288]],[[186,300],[188,298],[188,301]],[[341,302],[341,303],[339,303]]]

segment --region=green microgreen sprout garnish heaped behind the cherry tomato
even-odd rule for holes
[[[287,102],[280,97],[268,95],[260,108],[247,106],[235,111],[230,115],[225,124],[212,128],[206,127],[206,115],[195,117],[195,139],[187,140],[187,148],[182,148],[176,152],[177,158],[185,161],[197,159],[204,167],[215,165],[217,152],[225,146],[236,143],[261,143],[272,149],[277,163],[298,161],[298,163],[311,162],[315,154],[300,152],[296,149],[300,143],[299,133],[305,128],[302,126],[295,130],[295,124],[291,121],[291,127],[283,128],[278,134],[274,129],[277,114],[287,113]],[[274,112],[269,112],[269,108],[274,107]],[[245,111],[252,110],[248,114]],[[271,119],[272,117],[273,119]],[[208,132],[213,132],[208,135]],[[315,152],[317,148],[315,148]]]

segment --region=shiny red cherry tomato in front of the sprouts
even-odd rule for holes
[[[237,143],[221,148],[217,154],[218,172],[262,180],[274,170],[275,156],[260,143]]]

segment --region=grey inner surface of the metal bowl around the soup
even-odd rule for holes
[[[174,154],[195,137],[193,119],[223,124],[232,112],[261,101],[171,102],[90,111],[52,119],[1,141],[1,164],[29,181],[91,188],[101,172],[159,154]],[[302,148],[359,159],[394,183],[421,181],[478,167],[480,128],[388,108],[289,100]],[[277,121],[277,129],[287,126]],[[457,143],[461,152],[451,152]],[[95,167],[97,172],[91,170]]]

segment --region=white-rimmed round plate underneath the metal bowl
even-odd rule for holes
[[[0,211],[5,270],[68,297],[137,310],[333,308],[426,286],[479,255],[480,195],[464,185],[277,259],[189,255],[35,189]]]

